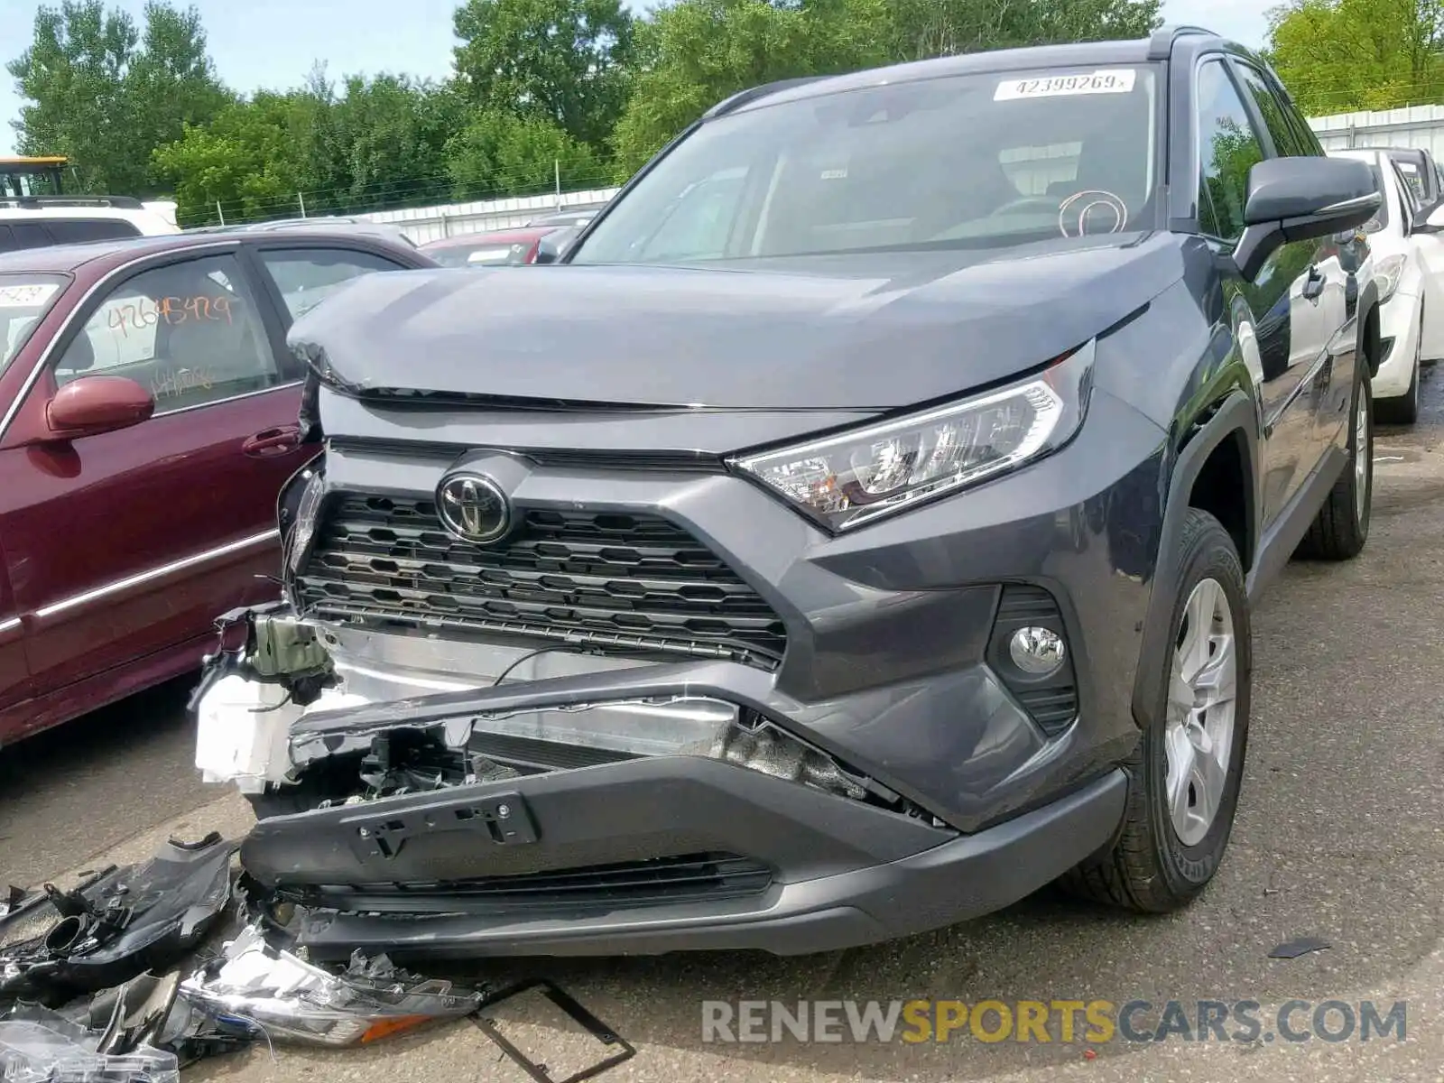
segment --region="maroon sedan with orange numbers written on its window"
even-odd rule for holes
[[[300,443],[292,321],[433,267],[336,230],[0,256],[0,744],[193,669],[276,593]]]

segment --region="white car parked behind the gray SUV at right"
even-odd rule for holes
[[[1365,225],[1379,283],[1382,360],[1373,377],[1380,422],[1412,425],[1419,413],[1419,365],[1444,358],[1444,238],[1427,224],[1414,186],[1386,150],[1330,150],[1373,168],[1383,205]]]

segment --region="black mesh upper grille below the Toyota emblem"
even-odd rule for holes
[[[657,516],[524,513],[462,542],[425,500],[334,498],[296,579],[308,614],[517,638],[731,657],[773,669],[781,618],[721,557]]]

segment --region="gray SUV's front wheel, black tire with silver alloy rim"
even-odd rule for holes
[[[1122,830],[1061,881],[1086,898],[1154,914],[1187,905],[1217,872],[1249,735],[1252,627],[1238,550],[1199,508],[1188,508],[1180,547],[1164,703],[1123,764]]]

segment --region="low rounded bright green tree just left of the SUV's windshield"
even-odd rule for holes
[[[448,144],[456,199],[549,192],[557,170],[563,188],[599,188],[606,170],[592,149],[539,117],[487,111]]]

